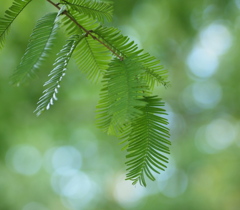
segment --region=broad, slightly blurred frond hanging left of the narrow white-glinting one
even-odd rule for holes
[[[43,60],[52,49],[59,26],[59,13],[50,13],[38,20],[33,29],[28,47],[12,76],[12,83],[20,85],[35,76]]]

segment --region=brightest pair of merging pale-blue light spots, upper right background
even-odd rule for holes
[[[187,58],[191,73],[199,78],[209,78],[219,67],[219,56],[232,44],[229,30],[222,24],[213,23],[203,29]]]

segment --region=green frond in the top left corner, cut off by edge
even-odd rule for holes
[[[4,17],[0,18],[0,49],[3,47],[7,31],[13,21],[31,1],[32,0],[14,0],[12,6],[6,10]]]

